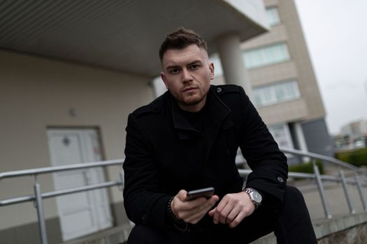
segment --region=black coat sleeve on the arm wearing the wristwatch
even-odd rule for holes
[[[240,149],[252,173],[247,177],[246,187],[265,192],[282,201],[287,183],[287,158],[261,120],[257,109],[240,88],[242,127]]]

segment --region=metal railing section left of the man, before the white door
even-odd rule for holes
[[[39,227],[39,234],[42,244],[47,244],[47,231],[45,225],[45,215],[43,213],[43,199],[47,199],[50,197],[58,197],[62,195],[69,195],[76,192],[85,192],[87,190],[96,190],[100,188],[109,188],[112,186],[120,186],[122,189],[122,185],[124,182],[124,176],[122,170],[120,170],[120,181],[107,181],[101,182],[91,185],[83,185],[78,186],[75,188],[68,188],[63,190],[54,190],[51,192],[41,192],[41,185],[38,183],[38,175],[40,174],[50,174],[59,171],[71,171],[76,169],[88,169],[93,167],[108,167],[112,165],[122,165],[124,160],[107,160],[107,161],[100,161],[100,162],[87,162],[75,165],[63,165],[63,166],[55,166],[55,167],[44,167],[44,168],[37,168],[37,169],[24,169],[24,170],[17,170],[17,171],[8,171],[0,173],[0,181],[3,178],[13,178],[13,177],[20,177],[20,176],[34,176],[34,195],[27,195],[22,197],[13,197],[8,199],[1,199],[0,200],[0,207],[7,206],[10,204],[20,204],[26,201],[34,201],[36,210],[37,210],[37,218],[38,218],[38,227]]]

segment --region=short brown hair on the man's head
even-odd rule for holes
[[[180,27],[176,31],[169,33],[166,39],[164,39],[161,48],[159,48],[159,59],[162,61],[163,55],[168,49],[183,49],[192,44],[196,44],[198,47],[208,51],[206,41],[199,34]]]

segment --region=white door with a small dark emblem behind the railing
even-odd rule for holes
[[[48,130],[48,145],[53,166],[102,159],[98,133],[93,129]],[[53,179],[55,189],[61,190],[100,183],[104,176],[98,167],[54,173]],[[112,226],[106,189],[64,195],[56,201],[64,241]]]

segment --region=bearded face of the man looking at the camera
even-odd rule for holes
[[[195,44],[184,49],[168,49],[162,59],[161,79],[178,105],[198,112],[206,103],[214,66],[205,49]]]

